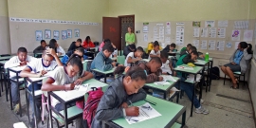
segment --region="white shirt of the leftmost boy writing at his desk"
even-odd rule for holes
[[[34,59],[36,59],[36,58],[27,55],[26,61],[29,63]],[[6,62],[5,68],[18,66],[18,65],[20,65],[20,63],[21,63],[21,61],[20,61],[19,57],[14,56],[14,57],[10,58],[8,62]],[[16,76],[15,73],[9,72],[9,78],[12,78],[12,77],[15,77],[15,76]]]

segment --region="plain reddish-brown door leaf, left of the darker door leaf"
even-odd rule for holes
[[[121,49],[120,42],[120,26],[118,17],[103,17],[102,18],[102,35],[103,39],[110,39],[110,41]]]

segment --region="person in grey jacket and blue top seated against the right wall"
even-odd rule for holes
[[[251,54],[249,54],[251,53]],[[221,70],[224,74],[229,76],[232,80],[231,88],[237,89],[238,88],[238,79],[234,77],[233,72],[240,71],[242,73],[247,72],[247,66],[249,64],[249,60],[252,57],[251,46],[247,46],[246,42],[241,42],[237,46],[237,49],[234,51],[232,56],[229,59],[229,64],[225,64],[221,66]]]

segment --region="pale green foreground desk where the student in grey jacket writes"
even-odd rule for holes
[[[129,124],[126,119],[120,118],[110,121],[103,121],[103,127],[105,125],[110,125],[111,127],[122,127],[122,128],[171,128],[176,126],[176,120],[182,116],[182,127],[185,125],[186,121],[186,107],[180,104],[176,104],[171,101],[165,101],[162,99],[155,98],[153,96],[147,95],[146,100],[154,101],[156,104],[151,106],[161,114],[161,116],[154,119],[147,119],[137,123]],[[137,101],[133,103],[135,106],[142,105],[146,101]]]

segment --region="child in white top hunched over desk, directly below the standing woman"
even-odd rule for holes
[[[132,63],[136,63],[141,60],[141,56],[143,54],[143,48],[138,46],[135,52],[130,52],[124,62],[124,66],[131,66]]]

